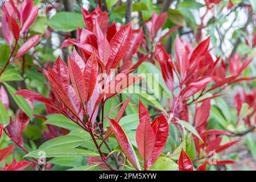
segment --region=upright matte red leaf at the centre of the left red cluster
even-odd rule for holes
[[[81,69],[70,56],[68,56],[68,70],[76,95],[79,97],[81,104],[84,105],[86,99],[84,78]]]

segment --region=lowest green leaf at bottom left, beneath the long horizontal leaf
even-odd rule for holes
[[[67,167],[82,166],[85,164],[84,158],[82,157],[53,158],[49,160],[47,163]]]

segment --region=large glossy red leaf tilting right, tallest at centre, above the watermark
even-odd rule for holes
[[[106,73],[110,74],[110,69],[115,69],[122,60],[131,40],[131,23],[123,26],[110,41],[110,57],[106,64]]]

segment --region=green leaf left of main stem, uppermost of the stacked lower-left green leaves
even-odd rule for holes
[[[48,115],[47,121],[45,123],[58,127],[63,127],[64,129],[67,130],[75,130],[81,128],[80,126],[76,125],[76,123],[74,123],[73,121],[71,121],[70,119],[66,118],[64,115],[61,114]]]

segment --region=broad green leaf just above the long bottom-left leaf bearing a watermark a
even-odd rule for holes
[[[45,148],[75,148],[84,143],[85,140],[81,137],[76,137],[72,135],[65,135],[61,137],[56,137],[51,140],[44,142],[39,149]]]

